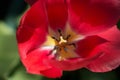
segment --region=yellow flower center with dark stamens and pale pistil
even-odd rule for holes
[[[75,33],[70,27],[67,27],[65,31],[59,29],[56,32],[49,29],[49,36],[44,45],[54,46],[50,55],[54,55],[59,61],[77,58],[79,55],[75,53],[75,43],[80,40],[80,37],[81,35]]]

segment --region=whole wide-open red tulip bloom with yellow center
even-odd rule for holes
[[[31,7],[21,19],[17,40],[29,73],[56,78],[62,71],[85,67],[105,72],[119,66],[119,0],[26,1]]]

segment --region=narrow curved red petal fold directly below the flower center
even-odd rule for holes
[[[76,70],[85,67],[88,65],[90,62],[94,61],[97,59],[101,53],[98,53],[96,55],[87,57],[87,58],[75,58],[75,59],[68,59],[65,61],[57,61],[57,60],[49,60],[50,64],[60,68],[65,71],[71,71],[71,70]]]

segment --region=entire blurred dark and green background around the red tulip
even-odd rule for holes
[[[19,18],[27,7],[23,0],[0,0],[0,80],[120,80],[120,68],[107,73],[80,69],[64,72],[58,79],[28,74],[20,62],[15,37]]]

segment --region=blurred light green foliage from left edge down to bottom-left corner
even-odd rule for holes
[[[15,31],[0,21],[0,80],[40,80],[21,65]]]

